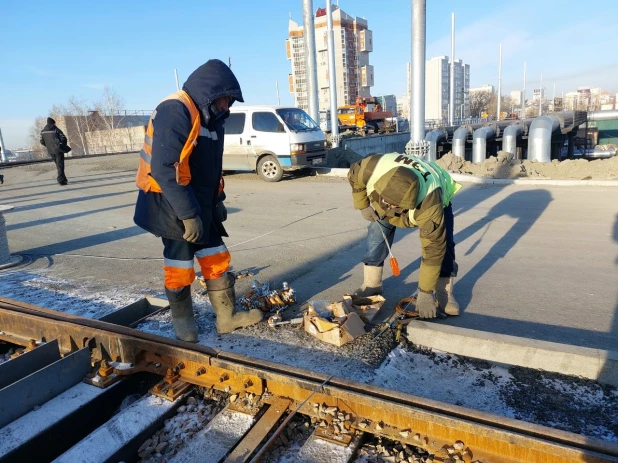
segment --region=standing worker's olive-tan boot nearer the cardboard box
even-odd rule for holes
[[[230,273],[214,280],[206,280],[208,298],[217,314],[217,332],[220,334],[231,333],[236,328],[255,325],[262,320],[262,311],[258,309],[234,313],[236,306],[235,281],[236,279]]]

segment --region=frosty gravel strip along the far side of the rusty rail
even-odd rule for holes
[[[131,288],[93,291],[90,287],[78,288],[35,274],[24,278],[21,272],[0,275],[0,293],[7,296],[18,293],[20,297],[15,299],[44,307],[55,303],[55,310],[85,316],[98,316],[97,311],[108,313],[123,307],[133,302],[136,294]],[[93,294],[96,294],[94,306]],[[615,388],[594,381],[509,370],[423,350],[405,341],[396,345],[392,330],[373,344],[367,342],[375,331],[341,348],[317,340],[303,328],[287,325],[270,328],[266,319],[232,334],[219,335],[208,297],[194,294],[193,301],[199,342],[215,349],[618,442],[618,393]],[[317,305],[316,301],[312,303]],[[292,313],[297,310],[288,309]],[[285,318],[293,316],[288,311],[284,312]],[[149,318],[139,329],[174,338],[169,311]]]

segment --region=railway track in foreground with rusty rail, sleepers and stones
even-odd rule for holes
[[[132,328],[165,310],[151,302],[104,321],[0,298],[0,340],[24,347],[0,364],[0,462],[253,462],[301,426],[300,462],[363,446],[394,462],[618,462],[611,442]],[[181,413],[195,426],[161,441]]]

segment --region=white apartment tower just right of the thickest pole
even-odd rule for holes
[[[450,63],[448,56],[437,56],[425,63],[425,120],[448,119]],[[470,65],[455,60],[455,117],[470,113]]]

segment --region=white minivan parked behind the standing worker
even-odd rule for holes
[[[278,182],[283,171],[326,165],[326,136],[302,109],[234,106],[225,122],[223,170],[256,171]]]

